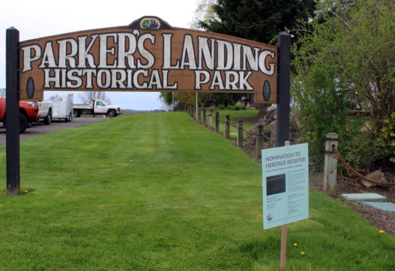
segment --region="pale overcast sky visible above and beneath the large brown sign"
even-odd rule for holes
[[[19,30],[20,41],[50,35],[129,25],[142,16],[157,16],[170,26],[189,28],[197,7],[196,0],[6,0],[0,8],[0,88],[6,86],[6,29]],[[51,95],[73,93],[79,102],[79,92],[44,92],[44,100]],[[159,92],[106,92],[111,104],[121,109],[156,110],[164,104]]]

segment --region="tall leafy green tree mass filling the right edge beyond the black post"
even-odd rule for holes
[[[356,166],[394,160],[394,18],[393,1],[324,0],[315,20],[295,30],[293,98],[312,151],[324,148],[330,128],[341,135],[342,150]],[[370,118],[355,117],[346,126],[350,101]]]

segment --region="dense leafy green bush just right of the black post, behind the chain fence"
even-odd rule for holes
[[[343,98],[338,93],[344,86],[332,80],[327,70],[320,67],[312,67],[309,74],[296,78],[291,91],[301,140],[309,143],[309,155],[313,159],[320,158],[324,154],[327,133],[336,133],[340,138],[346,134],[347,115],[342,109]]]

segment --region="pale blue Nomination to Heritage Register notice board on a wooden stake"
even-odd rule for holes
[[[309,218],[308,144],[262,150],[263,228]]]

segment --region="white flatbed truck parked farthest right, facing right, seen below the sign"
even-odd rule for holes
[[[78,118],[82,114],[107,115],[109,118],[122,114],[120,107],[108,105],[102,100],[93,100],[89,104],[73,104],[73,117]]]

